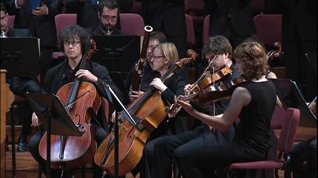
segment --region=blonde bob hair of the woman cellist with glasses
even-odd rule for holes
[[[162,54],[167,58],[167,67],[170,68],[173,64],[179,60],[178,50],[174,43],[160,43],[156,49],[160,50]]]

